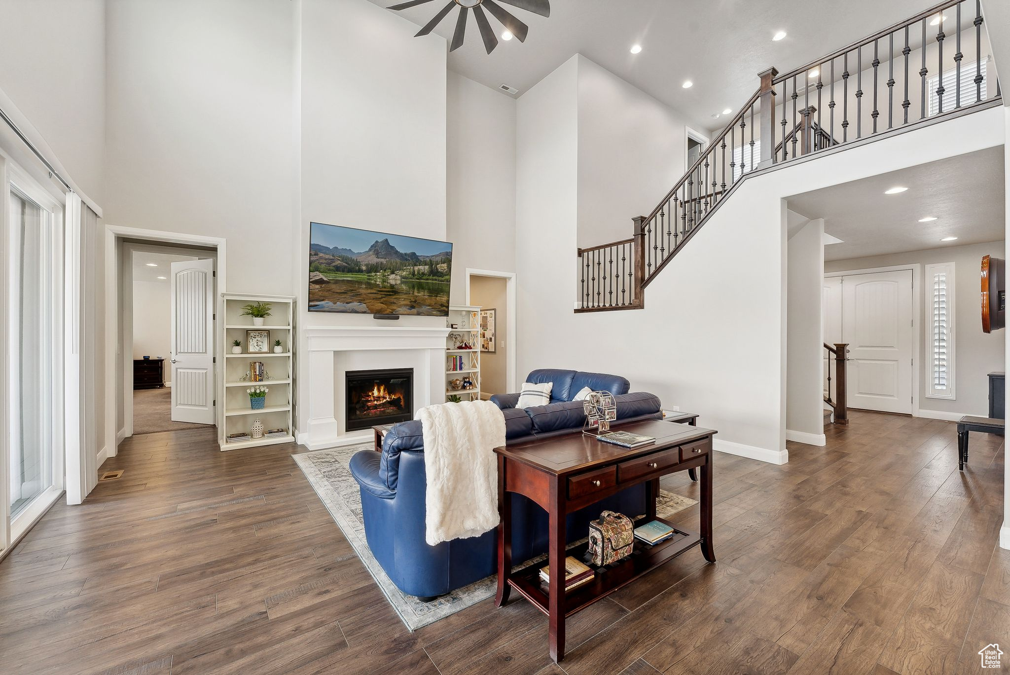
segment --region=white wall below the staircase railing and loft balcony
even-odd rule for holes
[[[523,286],[539,291],[520,289],[518,372],[552,367],[623,375],[634,390],[652,391],[668,405],[700,413],[702,425],[719,430],[717,448],[784,461],[783,198],[1001,144],[1002,110],[747,179],[646,287],[644,310],[576,314],[574,294],[542,292],[572,288],[577,279],[569,206],[574,188],[566,181],[572,149],[559,141],[572,135],[560,107],[571,99],[548,96],[544,87],[552,79],[557,84],[567,67],[519,99],[517,238],[540,246],[524,248],[518,259]],[[721,315],[712,318],[713,307],[721,308]]]

